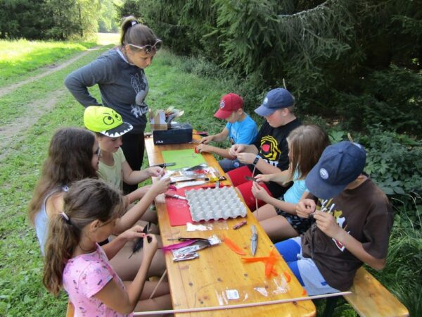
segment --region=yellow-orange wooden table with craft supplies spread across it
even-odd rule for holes
[[[194,139],[200,139],[194,135]],[[195,144],[153,144],[153,137],[145,139],[150,166],[163,163],[161,151],[192,149]],[[223,170],[212,154],[203,154],[209,166],[217,168],[221,175]],[[166,162],[169,163],[169,162]],[[229,181],[222,185],[230,185]],[[212,235],[229,237],[250,257],[251,225],[256,225],[258,232],[257,252],[255,256],[269,256],[274,244],[252,213],[247,211],[247,225],[238,230],[232,227],[242,218],[229,219],[226,223],[214,224],[213,230],[186,231],[186,225],[171,226],[167,214],[164,194],[155,199],[158,212],[160,234],[164,245],[176,243],[167,239],[177,237],[204,237]],[[226,225],[225,225],[226,224]],[[274,268],[278,276],[265,278],[264,263],[244,263],[242,256],[229,249],[223,242],[217,246],[198,251],[199,258],[189,261],[174,262],[172,253],[165,256],[167,275],[174,309],[192,309],[234,304],[262,303],[279,299],[304,297],[305,292],[282,258],[276,261]],[[276,252],[276,254],[279,254]],[[288,281],[289,280],[289,281]],[[232,290],[238,292],[238,299],[227,299]],[[226,292],[229,291],[229,292]],[[219,311],[202,311],[179,313],[177,316],[315,316],[316,309],[311,300],[270,304],[241,309],[224,309]]]

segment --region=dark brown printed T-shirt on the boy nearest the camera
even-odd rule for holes
[[[323,202],[319,199],[317,209]],[[359,187],[345,189],[325,201],[324,209],[332,210],[338,225],[362,242],[366,252],[376,259],[385,259],[394,215],[388,198],[369,178]],[[314,260],[328,285],[337,290],[348,290],[362,266],[362,261],[315,223],[302,235],[302,254]]]

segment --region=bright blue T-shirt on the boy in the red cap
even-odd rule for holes
[[[229,139],[233,144],[252,144],[258,134],[258,127],[255,121],[246,115],[242,121],[227,123]]]

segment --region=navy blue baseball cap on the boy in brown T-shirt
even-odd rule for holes
[[[318,198],[333,198],[357,179],[365,163],[366,151],[362,145],[348,141],[330,145],[307,175],[306,187]]]

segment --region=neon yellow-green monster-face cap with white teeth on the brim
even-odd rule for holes
[[[122,116],[112,108],[89,106],[84,112],[84,125],[88,130],[100,132],[107,137],[120,137],[134,127],[123,122]]]

